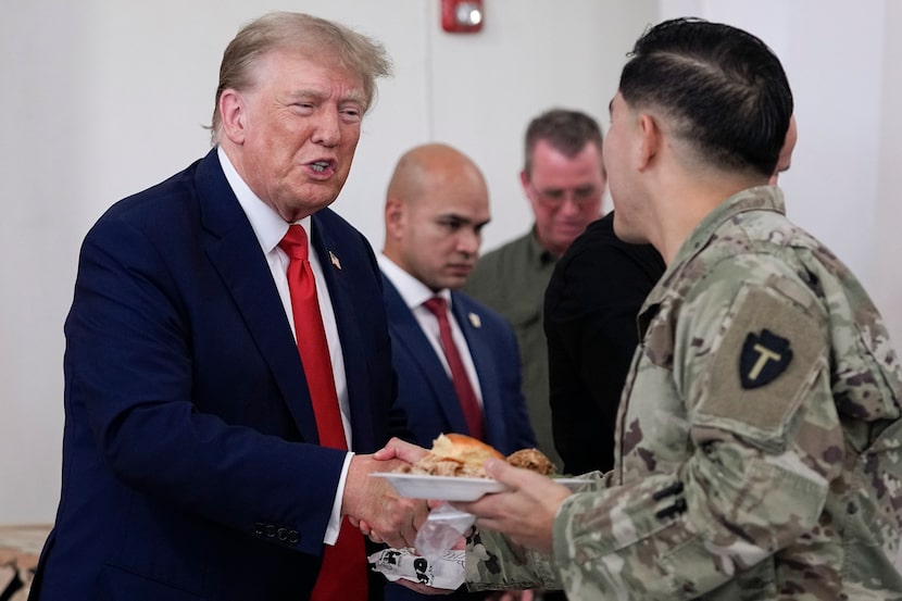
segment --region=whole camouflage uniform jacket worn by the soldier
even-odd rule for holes
[[[640,313],[614,471],[561,506],[550,562],[484,533],[468,579],[572,600],[902,599],[898,356],[784,212],[759,187],[702,221]]]

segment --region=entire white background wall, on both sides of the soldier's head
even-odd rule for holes
[[[0,523],[52,519],[62,431],[62,325],[78,246],[118,198],[208,150],[222,51],[268,10],[309,11],[383,40],[396,76],[364,122],[335,208],[381,246],[398,155],[428,140],[486,172],[492,248],[525,230],[527,121],[552,105],[607,124],[636,37],[696,14],[781,57],[800,141],[790,215],[842,256],[902,343],[902,4],[869,0],[485,0],[481,34],[439,26],[439,0],[5,0],[0,20]],[[115,368],[115,366],[111,366]]]

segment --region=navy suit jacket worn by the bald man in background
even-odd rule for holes
[[[469,434],[451,378],[416,317],[385,276],[383,289],[398,374],[398,402],[408,416],[413,441],[428,449],[440,434]],[[486,442],[505,455],[535,447],[536,437],[521,391],[519,354],[514,330],[501,315],[463,292],[451,291],[451,312],[466,338],[479,378]],[[472,320],[471,315],[476,318]],[[441,599],[485,597],[485,592],[468,594],[458,591]],[[400,585],[388,585],[386,600],[402,599],[424,597]]]

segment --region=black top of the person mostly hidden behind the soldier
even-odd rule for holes
[[[614,235],[614,213],[589,224],[546,290],[554,447],[568,474],[614,466],[617,406],[639,343],[636,317],[664,274],[650,245]]]

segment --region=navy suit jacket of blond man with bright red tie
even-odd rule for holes
[[[378,267],[331,211],[312,229],[353,448],[372,452],[394,398]],[[65,335],[62,494],[39,598],[305,599],[344,453],[317,446],[288,320],[215,150],[91,228]]]

